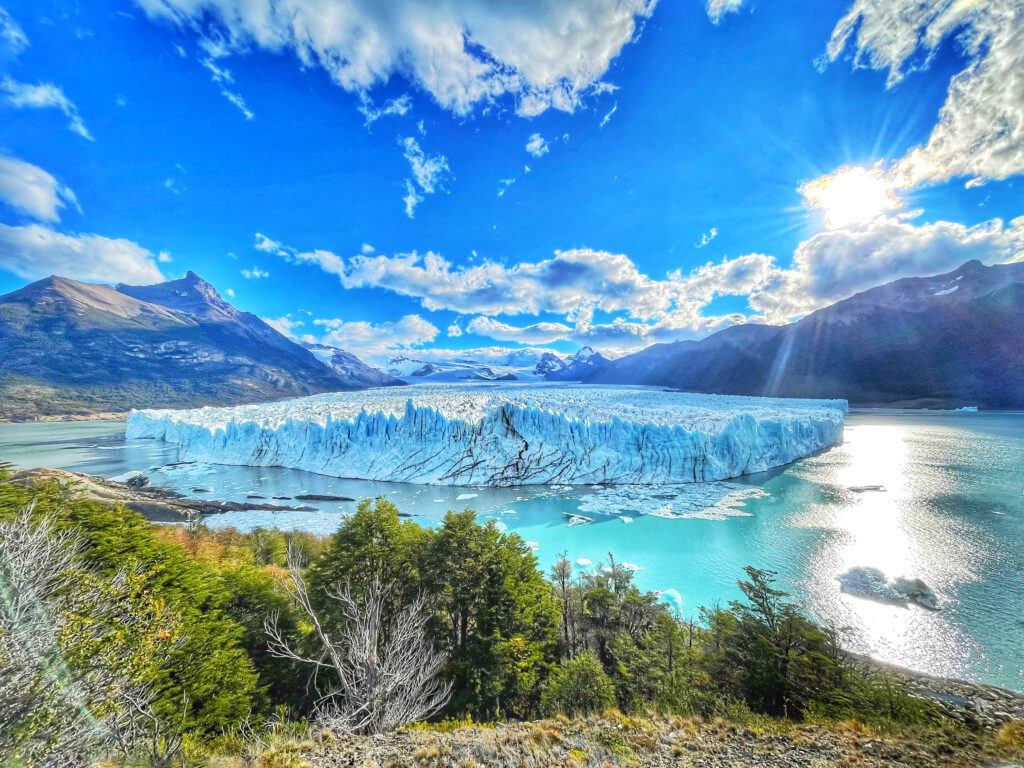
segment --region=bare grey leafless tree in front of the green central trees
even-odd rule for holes
[[[338,604],[331,625],[314,607],[302,575],[303,563],[289,553],[284,583],[299,610],[312,625],[314,654],[293,647],[279,615],[266,621],[270,653],[324,673],[316,719],[330,728],[355,733],[383,733],[430,717],[451,695],[451,683],[440,682],[442,653],[427,637],[430,612],[422,596],[400,609],[388,605],[394,590],[374,575],[353,593],[351,582],[327,590]]]

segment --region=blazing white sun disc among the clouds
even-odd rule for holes
[[[824,213],[829,229],[866,224],[900,207],[892,177],[881,168],[843,166],[800,185],[804,205]]]

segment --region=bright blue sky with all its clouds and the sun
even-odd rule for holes
[[[1022,258],[1024,9],[933,5],[0,0],[0,292],[614,355]]]

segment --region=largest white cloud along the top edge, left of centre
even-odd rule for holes
[[[135,0],[234,51],[292,51],[346,90],[398,75],[458,115],[503,95],[521,115],[572,112],[656,0]]]

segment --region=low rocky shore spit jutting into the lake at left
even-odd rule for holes
[[[223,502],[213,499],[189,499],[175,490],[150,485],[145,477],[141,475],[131,478],[127,482],[118,482],[105,477],[88,475],[83,472],[67,472],[62,469],[23,469],[13,472],[10,481],[35,484],[48,479],[61,480],[72,484],[84,498],[90,501],[123,505],[154,522],[191,522],[198,520],[202,515],[248,510],[316,511],[316,507],[309,506],[294,507],[255,501]]]

